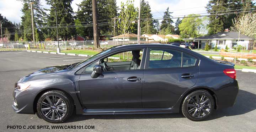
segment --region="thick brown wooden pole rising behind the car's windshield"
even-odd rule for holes
[[[96,0],[92,0],[92,22],[93,22],[93,29],[94,29],[94,47],[100,48],[96,9],[97,9],[97,2],[96,2]]]

